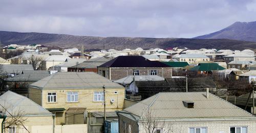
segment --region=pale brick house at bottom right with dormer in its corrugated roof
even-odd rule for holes
[[[208,92],[158,93],[118,117],[120,133],[256,132],[254,115]]]

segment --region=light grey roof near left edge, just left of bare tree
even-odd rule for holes
[[[26,70],[34,70],[31,64],[3,64],[4,72],[3,73],[22,73]]]

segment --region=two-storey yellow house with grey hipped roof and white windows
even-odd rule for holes
[[[56,124],[84,124],[87,113],[123,109],[124,87],[93,72],[58,72],[29,85],[29,98],[56,116]]]

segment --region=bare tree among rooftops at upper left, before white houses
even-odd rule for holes
[[[45,60],[43,57],[31,55],[28,60],[29,60],[29,63],[32,64],[34,70],[42,70],[43,69],[42,65]]]

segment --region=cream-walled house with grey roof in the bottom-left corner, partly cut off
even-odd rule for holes
[[[27,97],[8,91],[0,96],[0,104],[1,112],[7,116],[2,124],[4,127],[9,126],[4,129],[5,132],[38,132],[42,129],[45,132],[53,132],[54,115]],[[11,122],[12,116],[17,120]],[[40,126],[48,128],[39,128]]]

